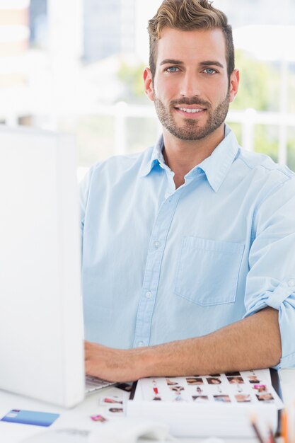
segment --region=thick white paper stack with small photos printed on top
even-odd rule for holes
[[[266,436],[270,428],[276,431],[278,410],[283,407],[270,370],[260,369],[141,379],[127,404],[127,416],[165,422],[179,437],[255,437],[251,415]]]

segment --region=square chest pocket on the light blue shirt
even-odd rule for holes
[[[175,294],[202,306],[233,303],[244,246],[183,237]]]

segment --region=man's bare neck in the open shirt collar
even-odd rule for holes
[[[185,183],[186,174],[207,159],[224,139],[224,125],[200,140],[180,140],[164,128],[163,139],[163,157],[175,174],[174,183],[177,189]]]

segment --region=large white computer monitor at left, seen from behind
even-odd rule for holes
[[[69,135],[0,128],[0,389],[83,400],[76,148]]]

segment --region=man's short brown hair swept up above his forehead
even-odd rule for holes
[[[149,20],[149,67],[154,79],[156,73],[157,42],[163,28],[180,30],[219,28],[226,42],[228,76],[235,67],[233,33],[225,13],[212,6],[208,0],[164,0],[156,15]]]

